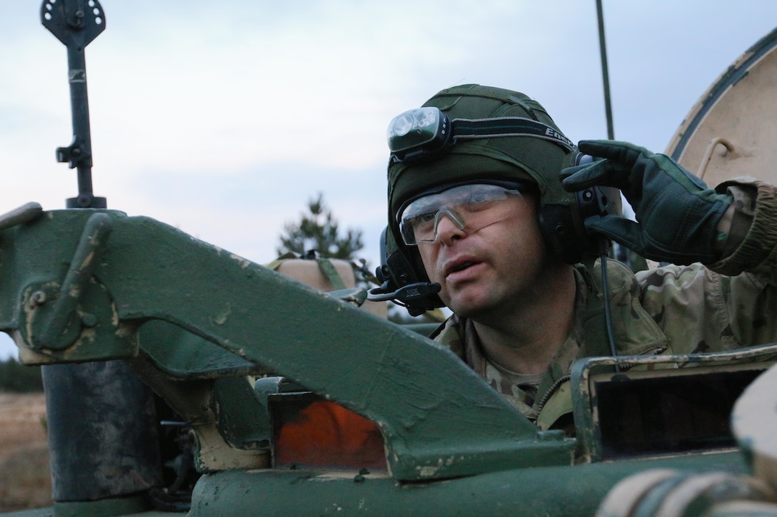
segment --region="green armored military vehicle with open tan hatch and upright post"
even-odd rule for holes
[[[54,506],[20,515],[777,515],[777,344],[580,360],[576,436],[539,431],[364,289],[107,210],[83,74],[104,13],[41,18],[68,47],[57,156],[79,192],[0,217],[0,329],[44,365],[51,445]],[[773,113],[739,114],[777,106],[775,48],[726,70],[667,154],[706,179],[773,171]]]

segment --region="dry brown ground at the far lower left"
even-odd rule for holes
[[[0,512],[51,504],[44,394],[0,393]]]

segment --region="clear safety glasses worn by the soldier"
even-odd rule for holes
[[[477,184],[420,197],[400,210],[402,241],[409,246],[437,241],[437,228],[443,217],[467,234],[476,232],[509,217],[514,204],[508,200],[514,196],[521,196],[521,191]]]

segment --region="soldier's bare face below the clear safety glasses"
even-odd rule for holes
[[[542,288],[549,256],[539,229],[536,202],[514,196],[509,215],[472,233],[444,217],[437,241],[418,250],[441,300],[456,314],[487,320]]]

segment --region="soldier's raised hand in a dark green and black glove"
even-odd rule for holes
[[[715,262],[718,223],[733,202],[707,188],[664,154],[618,141],[581,141],[581,152],[606,158],[561,172],[573,192],[614,186],[631,203],[636,220],[615,215],[589,217],[588,229],[625,245],[648,259],[674,264]]]

